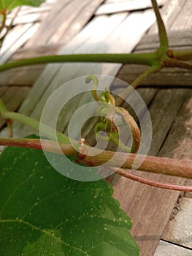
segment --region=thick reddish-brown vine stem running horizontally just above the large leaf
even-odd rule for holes
[[[43,144],[42,144],[43,143]],[[39,140],[39,139],[11,139],[11,138],[0,138],[0,145],[2,146],[18,146],[26,148],[37,148],[42,149],[42,145],[45,151],[49,151],[55,154],[61,154],[60,149],[67,156],[72,156],[80,146],[79,143],[74,145],[73,148],[70,144],[66,143],[56,143],[52,140]],[[92,148],[85,145],[85,149],[88,152],[81,160],[82,164],[87,166],[99,166],[104,165],[107,161],[111,160],[115,155],[115,159],[110,162],[110,167],[119,167],[122,165],[122,159],[126,159],[122,168],[131,169],[134,160],[143,159],[142,164],[137,168],[137,170],[147,171],[151,173],[161,173],[170,176],[180,176],[183,178],[192,178],[192,161],[184,161],[178,159],[170,159],[166,157],[152,157],[143,156],[139,154],[126,154],[121,152],[113,151],[101,151],[98,148]]]

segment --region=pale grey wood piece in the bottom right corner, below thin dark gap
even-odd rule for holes
[[[161,241],[157,247],[154,256],[191,256],[190,249]]]

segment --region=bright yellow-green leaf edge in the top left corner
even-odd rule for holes
[[[31,5],[34,7],[38,7],[45,0],[0,0],[0,10],[12,10],[15,7],[21,5]]]

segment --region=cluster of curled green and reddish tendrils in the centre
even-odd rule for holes
[[[106,88],[99,97],[96,91],[97,86],[99,85],[99,80],[94,75],[88,75],[88,77],[85,78],[85,83],[90,83],[91,81],[93,81],[93,98],[99,104],[96,113],[100,115],[101,120],[98,124],[96,124],[94,129],[94,133],[97,135],[97,138],[107,140],[105,136],[98,135],[98,132],[100,131],[107,132],[108,139],[113,141],[123,151],[128,153],[137,153],[140,146],[141,136],[139,127],[133,116],[131,116],[126,109],[115,107],[115,98],[112,96],[109,89]],[[115,113],[121,116],[123,122],[131,129],[133,141],[131,148],[128,148],[128,146],[119,140],[119,129],[114,121]]]

